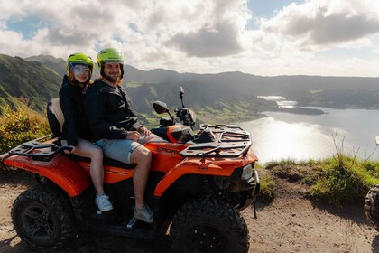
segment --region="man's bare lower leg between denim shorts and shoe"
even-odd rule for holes
[[[152,153],[143,145],[138,146],[130,155],[130,162],[136,164],[134,168],[133,183],[135,208],[138,210],[144,204],[144,190],[149,177]]]

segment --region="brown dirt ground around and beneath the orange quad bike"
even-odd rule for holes
[[[23,173],[0,171],[0,252],[32,253],[13,230],[14,199],[31,184]],[[363,207],[333,210],[303,198],[300,184],[277,179],[279,193],[268,204],[243,211],[250,231],[249,252],[379,252],[379,233],[365,220]],[[80,234],[68,252],[156,252],[153,241]],[[168,252],[167,248],[162,252]]]

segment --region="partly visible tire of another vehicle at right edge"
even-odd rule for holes
[[[365,216],[379,231],[379,183],[365,195]]]

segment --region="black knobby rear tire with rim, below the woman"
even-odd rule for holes
[[[12,220],[18,236],[40,252],[55,252],[76,235],[69,197],[47,184],[33,186],[17,197]]]

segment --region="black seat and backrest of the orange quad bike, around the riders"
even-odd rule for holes
[[[58,139],[54,142],[55,145],[60,146],[60,137],[62,136],[62,130],[63,130],[63,123],[64,123],[64,116],[63,112],[60,108],[60,99],[59,98],[53,98],[49,101],[47,105],[47,117],[49,121],[49,126],[51,129],[51,133],[58,137]],[[79,155],[73,155],[69,154],[67,155],[70,159],[78,162],[90,162],[91,160],[88,157],[83,157]],[[119,162],[117,160],[114,160],[112,158],[109,158],[107,156],[104,156],[104,165],[109,166],[115,166],[119,168],[124,169],[133,169],[135,167],[135,164],[125,164],[122,162]]]

